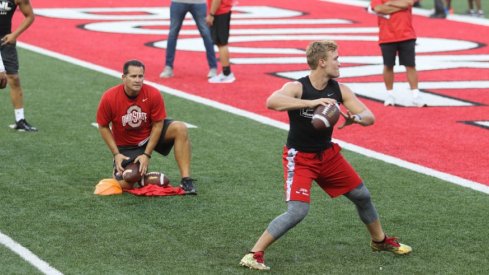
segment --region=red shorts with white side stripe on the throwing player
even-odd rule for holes
[[[332,198],[358,187],[362,179],[340,151],[335,143],[320,153],[299,152],[284,146],[285,200],[309,203],[313,180]]]

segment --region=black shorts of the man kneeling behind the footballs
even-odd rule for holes
[[[160,139],[158,140],[158,143],[156,144],[156,147],[154,149],[156,152],[162,154],[163,156],[167,156],[173,148],[173,141],[165,142],[166,131],[168,130],[168,127],[172,122],[172,119],[165,119],[165,121],[163,122],[163,130],[161,131]],[[146,149],[146,145],[147,143],[142,146],[120,146],[119,152],[124,156],[129,157],[128,160],[122,161],[122,167],[126,167],[129,163],[134,162],[134,160],[138,156],[142,155],[144,153],[144,150]],[[120,175],[116,175],[116,173],[117,170],[115,169],[114,162],[114,176],[118,180],[122,179]]]

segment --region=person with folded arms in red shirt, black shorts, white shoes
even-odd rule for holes
[[[412,7],[416,0],[372,0],[370,7],[377,14],[389,17],[377,17],[379,25],[379,45],[384,61],[384,84],[387,90],[385,106],[395,105],[394,65],[399,55],[399,64],[406,68],[407,80],[411,89],[412,104],[425,106],[418,90],[416,71],[416,33],[413,27]]]

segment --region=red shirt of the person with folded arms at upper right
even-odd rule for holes
[[[388,0],[371,0],[372,9]],[[413,27],[412,7],[390,14],[386,19],[378,17],[379,43],[400,42],[416,39],[416,32]]]

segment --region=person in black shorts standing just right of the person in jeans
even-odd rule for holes
[[[232,83],[236,78],[231,72],[228,40],[233,0],[207,0],[207,5],[209,13],[206,21],[211,28],[214,44],[219,49],[219,62],[222,66],[222,72],[209,78],[209,83]]]

